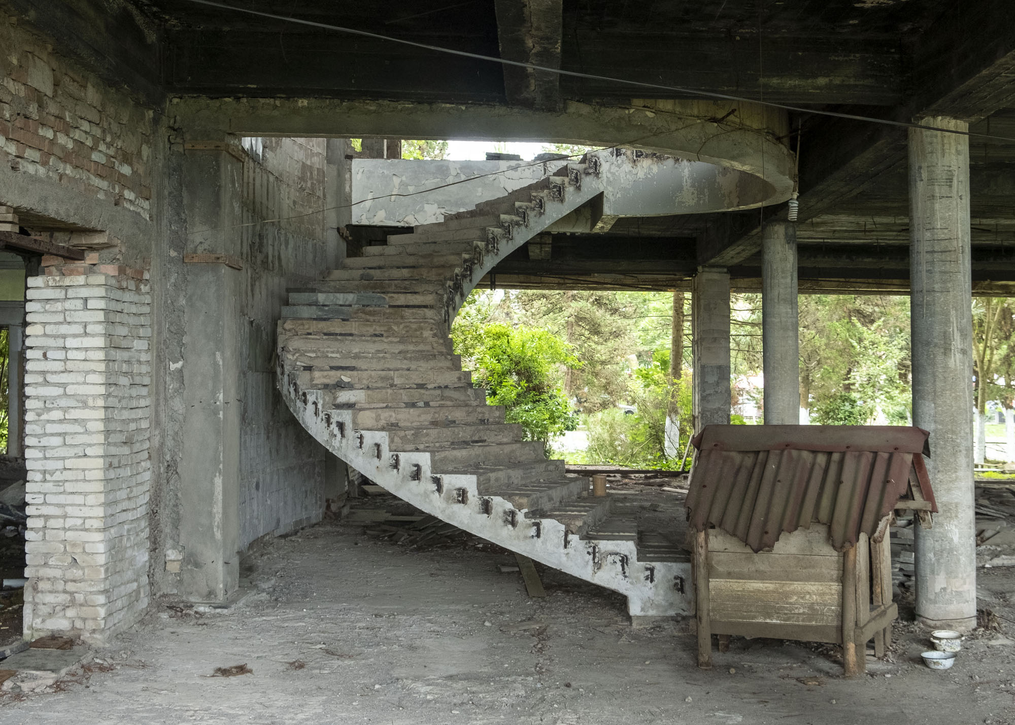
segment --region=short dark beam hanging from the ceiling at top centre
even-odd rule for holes
[[[504,60],[560,67],[562,0],[494,0],[497,39]],[[503,66],[504,92],[513,106],[560,110],[560,76],[547,71]]]

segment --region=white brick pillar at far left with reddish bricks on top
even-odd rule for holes
[[[28,638],[101,643],[148,603],[146,276],[78,264],[28,279]]]

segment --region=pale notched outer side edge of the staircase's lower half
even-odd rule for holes
[[[476,476],[443,474],[426,452],[397,452],[388,434],[357,431],[344,410],[323,414],[320,391],[294,385],[284,397],[289,409],[329,451],[414,507],[506,549],[627,597],[631,616],[693,613],[690,567],[683,562],[639,562],[634,540],[597,540],[569,533],[552,518],[529,518],[526,509],[477,490]],[[318,411],[318,414],[315,414]]]

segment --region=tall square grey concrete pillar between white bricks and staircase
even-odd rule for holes
[[[217,255],[241,255],[236,225],[242,220],[243,162],[223,150],[192,148],[184,154],[180,179],[187,283],[182,290],[180,594],[194,601],[221,601],[240,583],[239,301],[243,272],[216,260],[220,259]]]

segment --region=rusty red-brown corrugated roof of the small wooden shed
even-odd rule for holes
[[[688,521],[754,551],[818,521],[841,550],[862,531],[875,535],[910,477],[937,511],[923,461],[927,436],[895,425],[706,425],[692,441]]]

